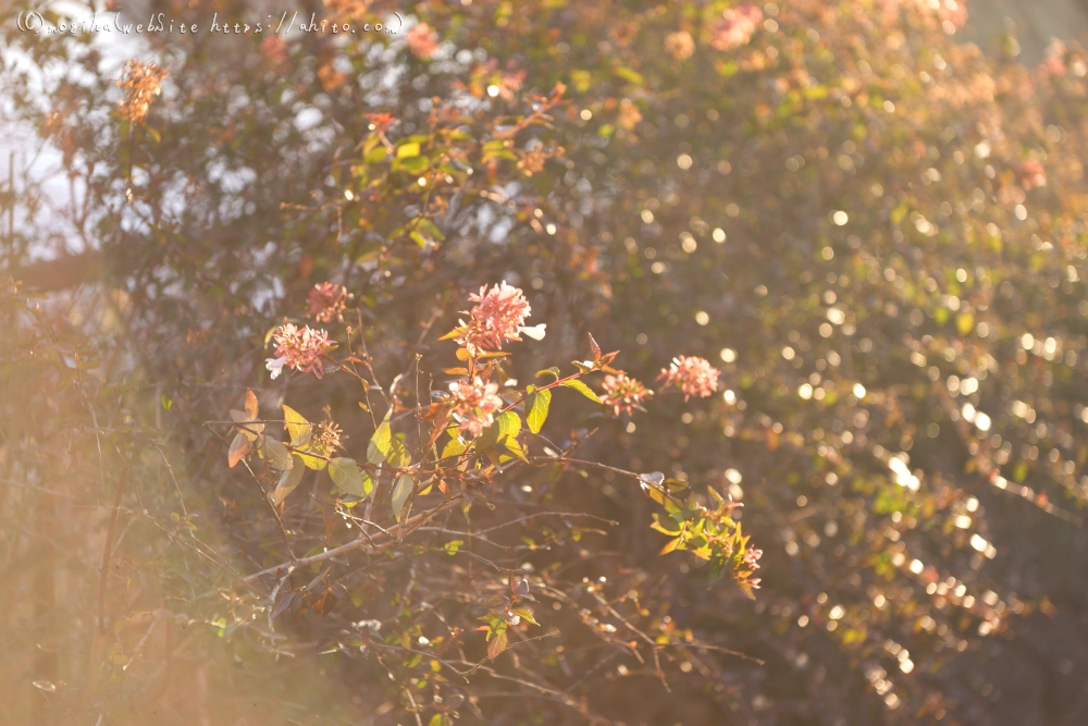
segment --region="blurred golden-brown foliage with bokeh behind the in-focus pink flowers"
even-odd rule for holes
[[[1079,47],[984,53],[962,0],[298,10],[404,26],[145,33],[119,60],[3,11],[4,122],[57,172],[5,198],[8,723],[1088,722]],[[118,108],[129,57],[169,72],[146,119]],[[252,387],[361,446],[354,382],[270,381],[267,332],[330,280],[380,377],[418,352],[441,378],[433,333],[500,279],[548,324],[514,378],[584,359],[586,332],[645,381],[678,354],[721,368],[714,398],[579,402],[545,433],[742,501],[757,600],[657,557],[629,480],[544,469],[447,526],[617,522],[466,545],[526,573],[558,635],[444,669],[483,657],[474,599],[506,580],[437,531],[290,578],[273,628],[240,576],[343,521],[314,483],[281,530],[203,422]]]

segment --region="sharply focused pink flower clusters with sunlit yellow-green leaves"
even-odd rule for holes
[[[326,290],[336,292],[335,299],[342,306],[346,298],[343,288],[324,283],[319,284],[313,292],[324,294]],[[311,310],[314,308],[313,299],[314,294],[311,293]],[[592,335],[592,358],[584,362],[574,361],[574,372],[564,376],[559,368],[548,368],[540,371],[537,378],[551,378],[549,382],[529,384],[523,392],[519,392],[512,387],[514,381],[507,381],[502,384],[503,395],[499,395],[497,380],[503,378],[503,366],[512,362],[510,354],[502,350],[503,346],[507,342],[520,341],[519,333],[529,334],[532,331],[531,337],[543,337],[544,325],[523,325],[531,308],[524,293],[506,282],[491,290],[484,285],[479,294],[470,295],[469,300],[475,303],[466,313],[469,322],[461,321],[458,328],[444,336],[456,340],[462,346],[457,349],[456,358],[465,365],[443,370],[461,378],[448,384],[448,393],[436,390],[430,396],[417,394],[417,424],[426,423],[431,430],[426,432],[420,429],[413,445],[405,433],[395,431],[393,426],[393,413],[398,407],[396,382],[387,394],[391,397],[385,417],[376,426],[367,448],[366,460],[361,463],[346,456],[332,457],[333,450],[341,446],[341,432],[335,424],[325,422],[320,428],[314,428],[286,405],[283,407],[283,423],[289,434],[288,441],[281,442],[272,438],[265,428],[271,421],[259,417],[257,398],[252,392],[248,392],[245,410],[231,411],[234,426],[238,429],[230,447],[231,467],[252,456],[264,459],[268,470],[277,478],[275,487],[268,490],[269,497],[277,506],[283,506],[287,495],[298,487],[304,467],[327,469],[332,482],[344,495],[350,497],[346,506],[355,507],[361,501],[367,501],[369,512],[374,501],[387,497],[394,521],[404,528],[412,507],[421,506],[426,501],[422,497],[434,488],[443,496],[440,501],[426,501],[428,508],[418,515],[424,520],[449,508],[450,503],[477,495],[478,491],[486,496],[487,490],[493,487],[493,478],[498,472],[505,473],[519,463],[531,465],[540,460],[540,454],[533,451],[535,447],[530,442],[534,439],[546,441],[537,438],[541,436],[551,410],[552,394],[557,389],[569,387],[596,404],[611,406],[617,416],[621,410],[631,414],[635,408],[642,409],[642,404],[653,395],[639,381],[614,368],[613,362],[618,352],[602,353]],[[321,309],[329,308],[323,306]],[[342,307],[338,312],[343,312]],[[323,366],[327,360],[330,369],[341,370],[366,384],[356,365],[363,364],[369,368],[370,361],[358,357],[350,349],[346,350],[347,355],[341,360],[326,358],[336,346],[329,342],[325,331],[312,331],[309,328],[299,331],[293,324],[285,323],[276,330],[273,337],[276,355],[280,357],[268,360],[272,379],[284,367],[312,372],[322,378]],[[583,380],[596,371],[609,371],[604,379],[603,397]],[[692,395],[710,395],[717,387],[718,376],[719,371],[705,359],[683,356],[676,358],[671,369],[663,372],[663,377],[667,379],[666,385],[680,387],[684,393],[684,401]],[[397,380],[401,378],[398,377]],[[423,402],[429,397],[436,398],[436,402],[424,406]],[[370,409],[369,403],[360,402],[360,405]],[[447,428],[450,419],[456,423],[454,428]],[[528,434],[522,432],[523,426],[528,428]],[[446,434],[446,441],[440,455],[435,444],[441,442],[443,433]],[[545,451],[545,458],[556,463],[565,460],[561,453]],[[758,567],[755,563],[761,552],[747,546],[749,538],[741,534],[740,525],[731,518],[738,504],[727,502],[712,487],[708,493],[715,506],[708,508],[698,504],[693,496],[689,496],[687,501],[678,496],[688,489],[688,484],[681,480],[666,479],[659,472],[623,473],[638,481],[647,496],[664,508],[664,519],[660,514],[654,515],[654,528],[672,538],[666,543],[663,553],[691,550],[695,556],[710,563],[712,583],[722,575],[731,574],[751,596],[752,589],[758,585],[758,579],[752,579],[751,575]],[[383,479],[386,487],[382,485]],[[417,503],[417,499],[421,501]],[[386,531],[368,520],[358,524],[360,532],[356,541],[359,543],[371,541],[372,534],[368,533],[368,528],[376,527],[380,531]],[[510,602],[516,600],[514,598]],[[489,655],[493,660],[505,648],[495,643],[506,642],[504,632],[507,626],[520,622],[510,620],[511,612],[533,622],[531,614],[527,616],[523,608],[510,610],[510,603],[507,605],[502,617],[489,620],[487,639],[492,643]]]

